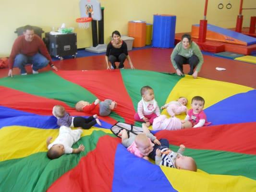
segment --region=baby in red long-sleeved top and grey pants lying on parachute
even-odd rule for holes
[[[90,114],[97,114],[99,116],[108,116],[111,111],[117,107],[117,103],[110,99],[105,99],[104,101],[100,101],[96,99],[92,104],[87,101],[78,101],[75,104],[75,109],[77,111],[84,111]]]

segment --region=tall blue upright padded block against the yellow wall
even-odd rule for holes
[[[154,15],[152,46],[174,48],[175,24],[175,15]]]

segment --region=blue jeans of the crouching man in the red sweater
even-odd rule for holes
[[[40,53],[37,53],[31,57],[24,54],[18,54],[15,57],[13,67],[18,67],[21,70],[21,74],[23,74],[26,73],[25,66],[27,64],[33,64],[33,70],[37,71],[38,69],[46,67],[48,63],[49,60]]]

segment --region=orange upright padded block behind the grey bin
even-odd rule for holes
[[[141,48],[146,45],[146,22],[129,21],[128,36],[134,37],[134,48]]]

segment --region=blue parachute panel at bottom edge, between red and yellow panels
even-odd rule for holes
[[[134,156],[122,144],[117,146],[114,165],[112,192],[177,192],[159,166]]]

